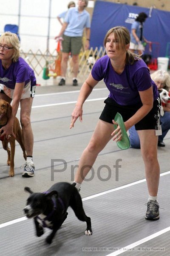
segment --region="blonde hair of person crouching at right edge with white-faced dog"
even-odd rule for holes
[[[150,75],[151,79],[156,81],[161,81],[164,83],[164,89],[170,90],[170,74],[165,70],[156,70]]]

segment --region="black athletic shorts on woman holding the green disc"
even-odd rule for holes
[[[119,105],[113,99],[108,97],[104,101],[105,108],[103,109],[99,119],[113,124],[112,120],[119,112],[124,122],[127,121],[131,116],[133,116],[139,108],[142,107],[142,102],[135,105]],[[151,111],[144,116],[142,120],[136,123],[136,130],[155,130],[155,126],[160,123],[160,98],[153,102],[153,108]]]

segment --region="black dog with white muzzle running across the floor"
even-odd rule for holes
[[[43,227],[52,230],[46,238],[48,244],[51,244],[57,230],[67,218],[69,206],[80,221],[86,222],[85,235],[92,235],[91,218],[85,215],[82,198],[73,185],[66,182],[55,183],[43,193],[34,193],[29,187],[24,189],[31,195],[23,210],[27,218],[34,218],[37,236],[43,235]]]

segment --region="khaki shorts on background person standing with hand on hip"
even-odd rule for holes
[[[63,35],[62,52],[71,52],[71,55],[79,55],[82,48],[82,36],[71,37]]]

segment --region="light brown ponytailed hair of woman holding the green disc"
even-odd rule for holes
[[[119,40],[119,47],[122,48],[122,50],[126,50],[126,45],[130,44],[130,33],[129,30],[127,28],[125,28],[124,26],[116,26],[113,27],[111,29],[108,30],[108,32],[105,35],[105,39],[104,39],[104,46],[106,47],[106,42],[108,39],[108,36],[114,33],[114,35],[116,35],[116,37]],[[125,63],[126,64],[133,64],[134,61],[137,61],[141,59],[141,57],[133,52],[130,52],[129,50],[127,50],[126,52],[126,60]]]

